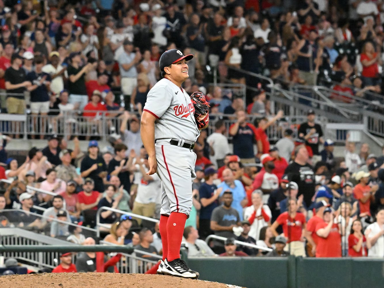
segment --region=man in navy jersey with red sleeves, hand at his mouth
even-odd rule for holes
[[[233,137],[233,154],[240,157],[243,163],[255,163],[253,143],[257,142],[256,127],[247,122],[244,111],[236,113],[237,122],[229,127],[229,135]]]

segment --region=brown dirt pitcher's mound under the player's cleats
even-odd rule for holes
[[[0,277],[0,286],[22,288],[235,288],[238,286],[166,275],[116,273],[42,273]]]

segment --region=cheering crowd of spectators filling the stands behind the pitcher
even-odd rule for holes
[[[286,86],[314,85],[332,74],[339,82],[334,101],[353,101],[337,91],[369,100],[366,91],[382,90],[382,5],[370,0],[0,0],[1,111],[25,114],[28,105],[36,136],[52,132],[47,146],[30,149],[23,163],[7,157],[12,135],[2,137],[0,178],[11,184],[0,195],[0,225],[85,245],[92,240],[65,222],[94,227],[100,207],[158,219],[160,179],[146,174],[137,115],[161,77],[162,51],[178,48],[195,55],[184,88],[207,94],[214,126],[211,134],[201,131],[194,147],[197,177],[184,232],[189,255],[383,257],[384,148],[383,155],[370,154],[366,143],[357,150],[347,136],[344,157],[334,157],[334,141],[324,139],[311,109],[297,130],[286,128],[271,143],[266,129],[283,112],[273,113],[263,83],[239,72],[260,73]],[[219,82],[247,84],[257,92],[243,98],[210,86],[213,68]],[[106,147],[87,137],[84,152],[77,136],[55,134],[62,132],[55,121],[38,122],[70,113],[97,127],[105,111],[110,119],[121,119],[121,126],[109,126]],[[227,119],[233,122],[229,129]],[[64,223],[29,214],[39,213],[33,205]],[[106,242],[161,254],[158,225],[147,227],[140,218],[109,210],[101,212],[100,222],[110,227]],[[207,245],[203,240],[211,234],[227,240]],[[71,263],[69,256],[64,253],[61,261]],[[73,270],[68,263],[65,269]]]

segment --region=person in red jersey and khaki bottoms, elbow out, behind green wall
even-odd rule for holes
[[[288,202],[288,211],[283,212],[277,217],[276,221],[271,225],[273,235],[278,236],[276,228],[281,225],[283,227],[284,236],[288,239],[288,245],[285,251],[290,250],[291,255],[305,257],[304,235],[305,216],[298,209],[297,200],[290,199]]]

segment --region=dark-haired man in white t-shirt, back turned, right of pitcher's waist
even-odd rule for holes
[[[214,151],[214,155],[210,156],[210,160],[214,164],[217,163],[218,168],[224,165],[224,158],[230,153],[228,139],[224,135],[226,131],[225,123],[222,120],[218,120],[215,123],[215,132],[207,138],[207,143]]]

